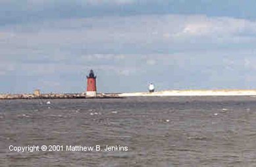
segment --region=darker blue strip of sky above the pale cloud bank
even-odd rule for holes
[[[255,1],[113,0],[0,1],[0,26],[61,18],[132,16],[141,14],[205,14],[255,20]]]

